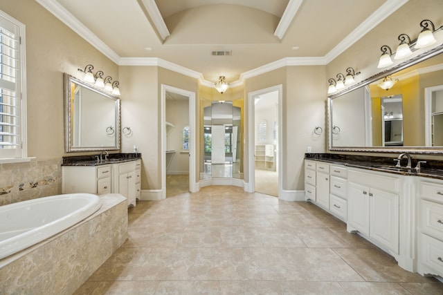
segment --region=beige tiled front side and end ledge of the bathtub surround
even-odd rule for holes
[[[126,198],[103,195],[89,218],[0,260],[0,294],[72,294],[126,239]]]

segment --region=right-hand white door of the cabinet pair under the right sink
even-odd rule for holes
[[[399,196],[370,189],[370,236],[399,253]]]

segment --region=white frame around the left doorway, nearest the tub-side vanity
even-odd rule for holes
[[[166,91],[189,98],[189,191],[198,191],[195,181],[195,151],[197,131],[195,130],[195,93],[181,88],[161,84],[161,198],[166,198]]]

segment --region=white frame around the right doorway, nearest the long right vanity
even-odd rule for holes
[[[249,183],[247,191],[255,191],[255,98],[266,93],[278,91],[278,198],[283,196],[282,185],[282,134],[283,134],[283,85],[271,86],[248,93],[248,169]]]

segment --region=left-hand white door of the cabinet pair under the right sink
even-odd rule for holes
[[[369,235],[369,188],[352,182],[347,187],[347,222],[362,234]]]

